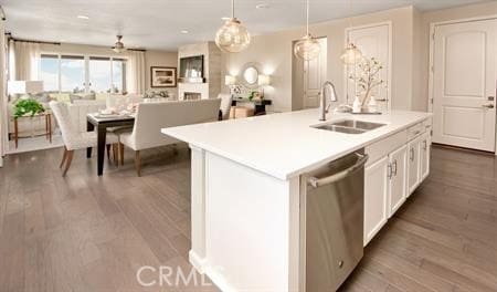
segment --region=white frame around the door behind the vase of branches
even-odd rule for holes
[[[388,111],[392,111],[392,21],[381,21],[381,22],[374,22],[374,23],[368,23],[363,25],[356,25],[356,27],[348,27],[343,30],[343,48],[347,46],[347,35],[350,31],[353,30],[361,30],[361,29],[370,29],[376,27],[382,27],[388,25],[389,27],[389,74],[388,74],[388,81],[387,81],[387,98],[388,101]],[[345,98],[348,101],[348,94],[349,94],[349,87],[348,87],[348,76],[347,76],[347,65],[343,65],[343,88],[345,88]]]

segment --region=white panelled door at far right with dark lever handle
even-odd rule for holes
[[[435,27],[433,142],[495,152],[497,20]]]

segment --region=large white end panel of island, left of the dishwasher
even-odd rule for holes
[[[298,291],[299,179],[205,153],[205,273],[223,291]]]

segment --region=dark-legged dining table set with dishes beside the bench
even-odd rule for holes
[[[127,106],[107,107],[97,113],[86,115],[86,131],[97,131],[97,174],[104,173],[105,138],[108,128],[133,127],[138,103],[130,103]],[[86,149],[86,157],[92,157],[92,147]]]

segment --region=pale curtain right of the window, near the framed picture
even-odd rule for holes
[[[145,52],[128,51],[128,70],[126,84],[128,93],[145,93]]]

